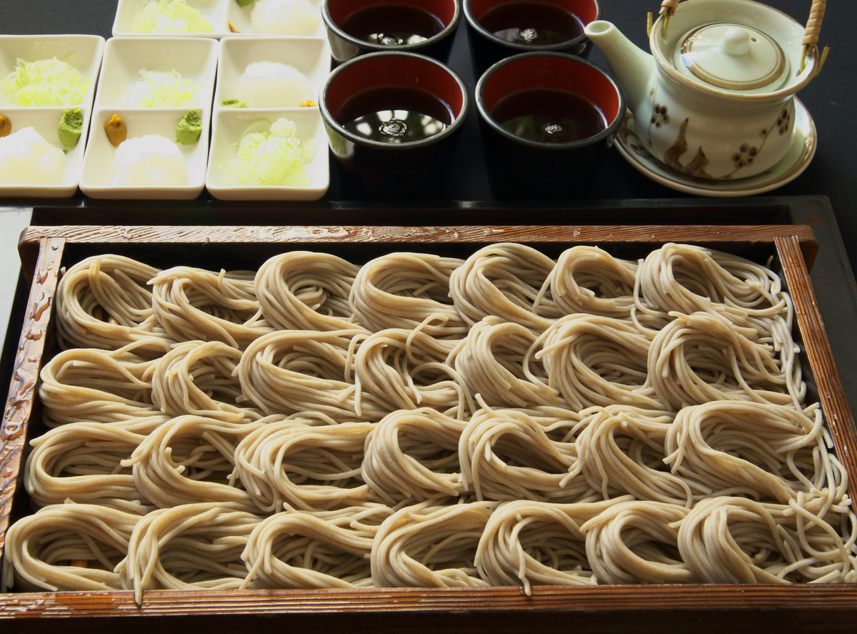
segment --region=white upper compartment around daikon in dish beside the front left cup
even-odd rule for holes
[[[221,39],[215,108],[221,107],[223,100],[241,98],[241,75],[254,62],[279,62],[294,66],[307,78],[317,103],[321,87],[330,74],[330,45],[327,39],[321,38]]]

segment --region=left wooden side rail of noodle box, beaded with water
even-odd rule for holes
[[[0,423],[0,556],[9,528],[9,514],[15,497],[21,454],[27,438],[27,425],[33,410],[36,383],[45,352],[45,335],[51,319],[51,305],[57,293],[63,238],[39,240],[39,259],[34,268],[33,284],[27,299],[27,314],[18,350],[15,370],[9,384],[9,395]]]

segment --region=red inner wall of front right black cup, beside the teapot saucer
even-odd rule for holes
[[[606,75],[572,57],[522,57],[500,66],[482,84],[488,112],[508,94],[531,88],[555,88],[579,94],[604,113],[608,126],[619,117],[619,93]]]

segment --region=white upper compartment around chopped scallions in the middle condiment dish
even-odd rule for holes
[[[137,82],[141,70],[169,73],[199,88],[195,107],[211,107],[217,74],[219,42],[211,38],[111,38],[105,45],[95,106],[116,108]],[[191,106],[188,106],[191,107]]]

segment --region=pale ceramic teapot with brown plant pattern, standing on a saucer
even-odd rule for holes
[[[801,70],[805,27],[788,15],[751,0],[686,0],[652,27],[651,55],[608,21],[585,31],[657,160],[698,178],[746,178],[791,147],[794,94],[819,55],[810,47]]]

